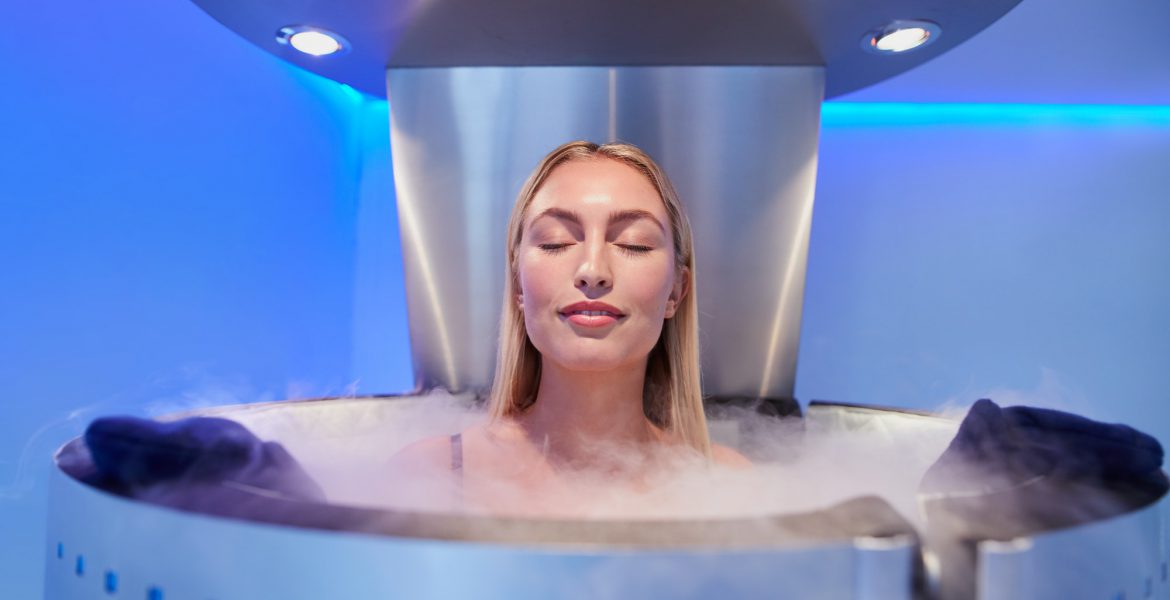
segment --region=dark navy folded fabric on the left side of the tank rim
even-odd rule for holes
[[[85,429],[85,444],[96,469],[94,483],[122,494],[164,487],[181,495],[184,488],[229,482],[291,499],[324,499],[283,446],[264,442],[227,419],[103,418]]]

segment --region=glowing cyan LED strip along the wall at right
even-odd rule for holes
[[[916,104],[826,102],[821,126],[906,125],[1170,126],[1170,106],[1121,104]]]

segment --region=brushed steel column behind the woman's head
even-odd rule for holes
[[[620,139],[690,218],[704,391],[791,396],[823,83],[819,67],[390,70],[417,384],[490,385],[524,178],[565,142]]]

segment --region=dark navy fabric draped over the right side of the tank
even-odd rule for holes
[[[941,600],[977,598],[977,543],[1071,527],[1165,495],[1162,446],[1124,425],[976,402],[918,488]]]

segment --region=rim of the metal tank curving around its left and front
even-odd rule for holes
[[[226,405],[161,416],[174,420],[187,416],[230,418],[233,413],[288,411],[329,402],[384,402],[420,398],[418,394],[379,394],[349,398],[315,398]],[[55,468],[77,484],[89,487],[78,477],[78,469],[89,461],[82,437],[74,439],[54,454]],[[102,494],[117,496],[99,488]],[[762,513],[737,518],[701,519],[528,519],[487,515],[460,515],[391,510],[291,499],[263,489],[221,485],[216,494],[234,502],[229,506],[191,510],[122,497],[166,509],[240,520],[287,525],[326,531],[350,531],[390,537],[426,538],[503,544],[553,546],[605,546],[654,549],[768,549],[796,547],[848,542],[858,537],[902,538],[906,531],[890,523],[875,523],[870,530],[858,531],[833,511],[856,510],[847,501],[823,510]],[[861,498],[862,502],[866,498]],[[222,504],[222,503],[221,503]],[[827,511],[827,513],[826,513]]]

